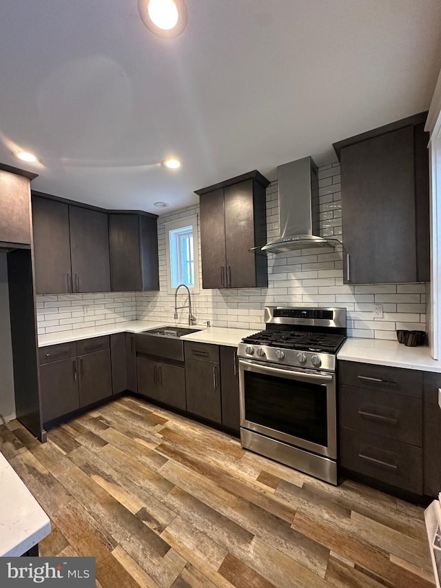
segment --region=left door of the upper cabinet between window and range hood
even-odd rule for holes
[[[200,197],[202,287],[227,287],[223,188]]]

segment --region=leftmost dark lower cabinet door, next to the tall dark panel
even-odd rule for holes
[[[79,408],[76,358],[40,365],[40,394],[43,423]]]

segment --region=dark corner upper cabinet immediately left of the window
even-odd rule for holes
[[[109,214],[114,292],[159,290],[156,218],[147,214]]]

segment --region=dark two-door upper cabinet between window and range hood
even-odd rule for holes
[[[249,251],[267,241],[268,184],[254,170],[196,190],[201,210],[203,288],[268,285],[267,256]]]

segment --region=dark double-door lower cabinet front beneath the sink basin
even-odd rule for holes
[[[139,394],[185,410],[185,367],[138,356],[136,374]]]

